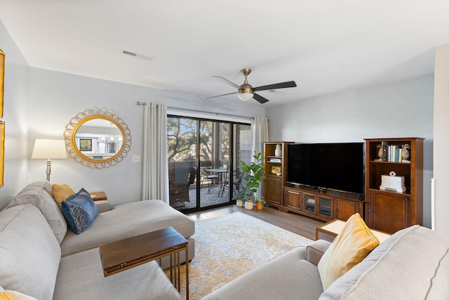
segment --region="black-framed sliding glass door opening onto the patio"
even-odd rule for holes
[[[168,116],[170,205],[197,211],[231,204],[250,159],[250,125]]]

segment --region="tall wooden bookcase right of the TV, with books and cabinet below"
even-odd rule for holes
[[[370,228],[395,233],[415,224],[422,225],[422,178],[424,138],[367,138],[365,164],[365,221]],[[408,159],[391,161],[379,155],[379,146],[403,148]],[[381,189],[382,175],[393,171],[403,176],[405,191]]]

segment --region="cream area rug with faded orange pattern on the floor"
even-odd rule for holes
[[[189,299],[201,299],[249,270],[312,240],[235,212],[196,222]],[[181,268],[184,272],[185,268]],[[185,274],[182,274],[185,281]],[[185,286],[182,287],[185,299]]]

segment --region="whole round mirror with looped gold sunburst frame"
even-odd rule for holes
[[[65,147],[70,157],[93,169],[112,167],[131,148],[128,125],[107,110],[85,110],[65,126]]]

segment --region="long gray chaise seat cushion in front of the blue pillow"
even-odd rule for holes
[[[68,230],[61,243],[62,256],[167,227],[173,227],[186,238],[195,233],[195,222],[192,219],[160,200],[121,204],[98,214],[91,228],[82,235]],[[194,252],[189,251],[191,254]]]

